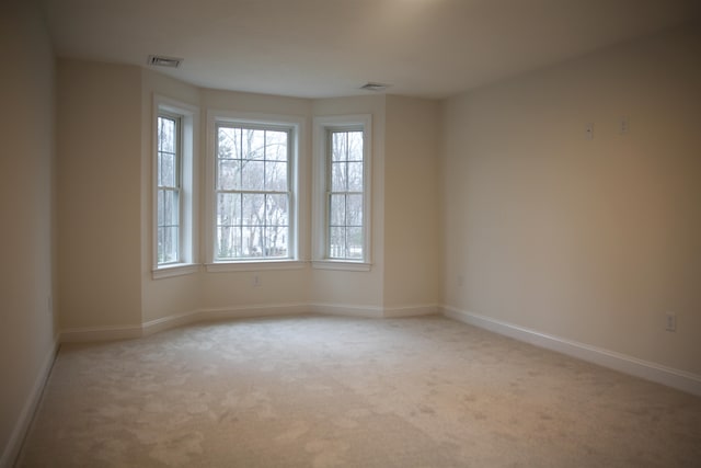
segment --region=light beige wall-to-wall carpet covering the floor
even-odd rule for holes
[[[699,467],[701,398],[441,317],[64,345],[22,467]]]

